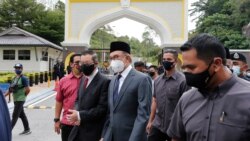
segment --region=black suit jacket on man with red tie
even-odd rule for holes
[[[84,80],[81,80],[76,109],[81,118],[80,126],[74,126],[68,141],[99,141],[107,115],[107,97],[110,80],[100,72],[96,74],[84,90]]]

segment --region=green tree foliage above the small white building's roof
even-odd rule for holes
[[[5,0],[0,5],[0,31],[17,26],[60,45],[64,37],[64,3],[51,11],[35,0]]]

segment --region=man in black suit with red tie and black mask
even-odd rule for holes
[[[73,122],[69,141],[98,141],[107,115],[107,97],[110,80],[97,68],[97,55],[91,50],[81,55],[82,78],[76,110],[69,110],[68,121]]]

